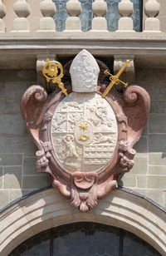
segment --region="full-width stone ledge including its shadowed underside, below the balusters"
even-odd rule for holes
[[[1,34],[0,69],[36,69],[38,56],[56,56],[61,61],[61,57],[75,57],[83,48],[96,57],[133,55],[137,65],[139,58],[147,65],[150,59],[158,66],[161,61],[166,63],[163,32],[10,32]]]

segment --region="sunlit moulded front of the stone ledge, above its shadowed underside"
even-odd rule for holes
[[[97,44],[96,44],[97,42]],[[0,38],[0,51],[5,52],[12,50],[22,51],[33,50],[41,53],[47,50],[55,53],[76,54],[82,48],[108,55],[108,50],[112,49],[114,54],[125,54],[130,49],[135,52],[144,50],[153,51],[147,54],[154,54],[156,51],[164,52],[166,49],[166,33],[129,33],[129,32],[44,32],[40,33],[2,33]],[[72,48],[71,48],[72,47]],[[117,52],[119,48],[123,48],[125,52]],[[65,51],[65,52],[61,52]],[[14,53],[14,52],[13,52]],[[28,52],[24,52],[27,54]],[[52,52],[51,52],[52,53]],[[112,53],[112,52],[111,52]],[[10,52],[11,54],[11,52]],[[131,55],[132,52],[129,52]],[[144,52],[142,53],[142,55]],[[166,53],[165,53],[166,54]]]

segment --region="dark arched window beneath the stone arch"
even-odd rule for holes
[[[92,222],[66,224],[28,239],[9,256],[159,256],[136,235]],[[161,255],[160,255],[161,256]]]

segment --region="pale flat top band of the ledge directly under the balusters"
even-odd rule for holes
[[[101,37],[102,36],[102,37]],[[1,33],[1,40],[24,40],[27,39],[31,41],[32,39],[43,39],[43,40],[97,40],[97,41],[119,41],[119,40],[129,40],[129,41],[164,41],[166,40],[166,32],[4,32]],[[101,39],[102,38],[102,39]]]

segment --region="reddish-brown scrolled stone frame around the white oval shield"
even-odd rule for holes
[[[65,86],[70,97],[70,94],[72,95],[71,84],[68,82]],[[103,84],[98,86],[96,95],[101,97],[104,87]],[[52,186],[56,187],[66,198],[71,199],[71,204],[87,212],[97,204],[97,199],[117,187],[120,174],[128,172],[133,167],[135,155],[133,146],[139,140],[148,119],[149,94],[139,86],[129,86],[123,94],[113,89],[105,97],[104,100],[114,111],[117,122],[118,135],[115,150],[108,163],[99,170],[90,171],[76,170],[76,168],[71,171],[67,165],[63,165],[63,161],[55,152],[55,142],[51,137],[52,120],[55,112],[58,113],[58,107],[64,101],[64,97],[58,88],[47,96],[41,86],[31,86],[22,97],[21,111],[32,140],[38,148],[37,170],[49,173]],[[83,125],[84,130],[86,125]],[[66,140],[66,137],[63,138],[65,139],[61,140],[61,143]],[[67,147],[70,149],[66,157],[72,154],[73,158],[78,158],[77,146],[73,147],[72,140],[74,136],[68,135],[65,141],[66,150]]]

